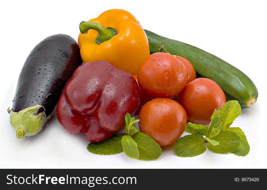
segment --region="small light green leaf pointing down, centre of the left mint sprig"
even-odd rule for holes
[[[137,143],[131,136],[124,135],[121,138],[123,152],[130,158],[139,158]]]

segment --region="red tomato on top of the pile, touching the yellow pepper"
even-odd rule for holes
[[[172,98],[187,82],[185,66],[173,55],[154,53],[140,65],[137,80],[144,92],[152,98]]]

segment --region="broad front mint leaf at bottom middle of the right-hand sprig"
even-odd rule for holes
[[[214,146],[211,143],[208,143],[207,147],[210,151],[218,154],[233,152],[238,148],[241,141],[236,132],[229,130],[221,130],[221,132],[217,136],[211,138],[211,140],[219,142],[219,145]]]

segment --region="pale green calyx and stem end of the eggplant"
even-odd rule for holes
[[[42,105],[34,105],[19,112],[10,110],[10,124],[16,131],[17,138],[22,138],[24,135],[33,136],[42,130],[50,115],[46,117],[45,111],[39,112],[40,108],[45,110]]]

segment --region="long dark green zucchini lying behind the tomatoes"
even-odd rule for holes
[[[241,108],[252,106],[258,98],[255,84],[242,71],[224,60],[192,45],[165,38],[145,30],[150,54],[159,52],[161,43],[172,55],[188,59],[196,70],[197,77],[210,78],[224,91],[227,101],[237,100]],[[255,98],[255,99],[254,99]]]

